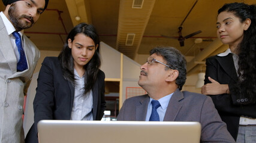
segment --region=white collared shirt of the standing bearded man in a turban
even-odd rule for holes
[[[0,16],[2,17],[2,21],[4,21],[4,26],[6,27],[7,33],[9,35],[9,38],[11,41],[11,45],[13,45],[14,54],[15,54],[15,56],[17,58],[17,62],[18,62],[20,60],[20,54],[19,54],[18,48],[15,43],[15,37],[12,34],[16,29],[14,28],[13,24],[11,24],[11,22],[8,20],[8,18],[4,15],[4,13],[2,11],[0,12]],[[22,41],[23,41],[23,32],[24,32],[24,30],[21,30],[18,32],[22,38]],[[22,45],[23,44],[24,43],[22,42]],[[24,46],[23,46],[23,48],[24,48]]]

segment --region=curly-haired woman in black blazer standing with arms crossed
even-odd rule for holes
[[[229,48],[206,59],[201,92],[212,97],[237,142],[256,142],[255,5],[225,4],[218,10],[216,27],[218,38]]]

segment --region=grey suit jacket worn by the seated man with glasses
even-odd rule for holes
[[[141,95],[125,100],[118,120],[146,120],[149,96]],[[206,95],[177,89],[168,104],[164,121],[186,121],[201,123],[201,142],[234,142],[227,127],[221,121],[212,100]]]

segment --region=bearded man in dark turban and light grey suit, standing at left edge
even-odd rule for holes
[[[24,95],[40,51],[23,29],[37,22],[49,0],[2,0],[0,13],[0,143],[25,142],[22,127]]]

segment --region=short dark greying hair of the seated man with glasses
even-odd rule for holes
[[[156,55],[161,56],[171,69],[179,71],[179,76],[176,79],[176,85],[181,91],[182,86],[186,82],[186,59],[181,52],[170,46],[157,46],[151,49],[149,53],[150,55],[155,53]],[[166,67],[166,70],[168,70],[168,67]]]

